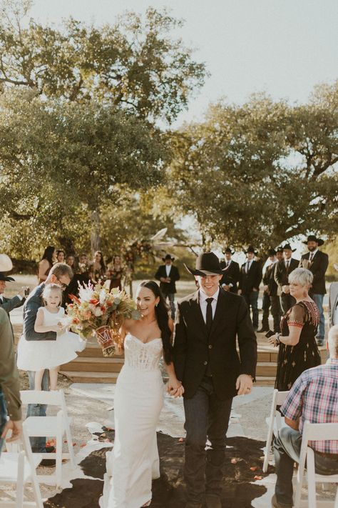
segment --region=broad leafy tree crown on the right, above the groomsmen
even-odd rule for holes
[[[203,244],[260,249],[338,219],[338,82],[307,106],[252,96],[210,106],[201,124],[173,133],[170,197],[193,214]]]

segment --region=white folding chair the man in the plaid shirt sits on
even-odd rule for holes
[[[316,508],[316,482],[338,483],[338,474],[317,474],[314,470],[314,451],[308,447],[309,441],[335,441],[338,440],[338,423],[310,424],[305,422],[302,429],[302,447],[300,449],[299,466],[297,473],[297,487],[295,508],[300,507],[302,497],[302,484],[305,476],[305,462],[307,464],[307,497],[308,507]],[[338,490],[332,508],[338,507]]]

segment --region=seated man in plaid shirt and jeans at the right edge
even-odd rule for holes
[[[304,371],[280,408],[287,427],[282,427],[274,442],[277,482],[272,507],[292,507],[292,475],[299,462],[302,429],[310,423],[338,424],[338,326],[329,331],[330,360]],[[338,441],[309,442],[314,449],[318,474],[338,473]]]

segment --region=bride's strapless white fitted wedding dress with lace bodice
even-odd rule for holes
[[[111,479],[108,508],[140,508],[160,477],[156,426],[163,406],[162,339],[143,343],[131,334],[114,398],[115,442],[107,457]]]

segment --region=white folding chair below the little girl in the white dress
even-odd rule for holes
[[[39,481],[55,480],[57,487],[61,487],[62,459],[70,459],[72,467],[76,467],[71,437],[70,420],[68,418],[66,400],[63,390],[39,392],[38,390],[24,390],[20,392],[23,404],[48,404],[60,408],[55,417],[27,417],[24,427],[29,437],[55,437],[56,452],[42,453],[43,457],[56,459],[55,475],[38,475]],[[63,435],[66,434],[68,452],[62,452]]]

